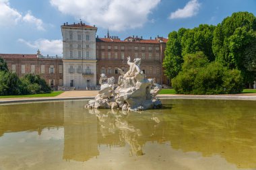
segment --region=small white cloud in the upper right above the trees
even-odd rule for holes
[[[201,4],[197,0],[191,0],[183,9],[177,9],[177,11],[170,13],[169,19],[193,17],[197,15],[200,6]]]

